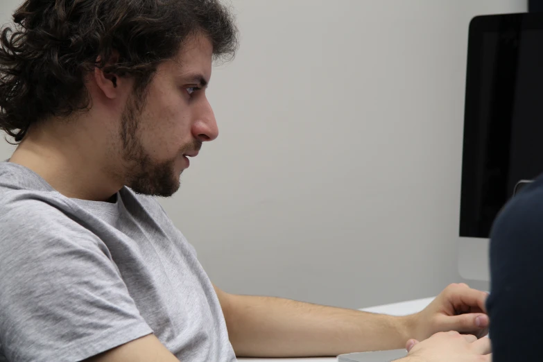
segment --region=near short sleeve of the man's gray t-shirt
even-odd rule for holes
[[[0,344],[8,361],[81,361],[153,333],[105,244],[60,210],[0,215]]]

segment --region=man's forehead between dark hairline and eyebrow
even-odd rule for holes
[[[178,76],[199,73],[209,80],[212,60],[212,42],[205,35],[194,35],[184,42],[180,51],[171,60],[161,64],[157,70],[173,72]]]

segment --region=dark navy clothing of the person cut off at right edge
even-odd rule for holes
[[[492,226],[487,308],[492,362],[543,361],[543,178]]]

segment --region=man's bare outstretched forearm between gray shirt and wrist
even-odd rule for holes
[[[225,312],[236,355],[336,356],[405,347],[410,318],[281,298],[230,295]]]

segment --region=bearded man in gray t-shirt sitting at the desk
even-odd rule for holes
[[[19,143],[0,163],[0,361],[333,356],[486,333],[485,293],[460,284],[406,317],[212,285],[151,196],[175,193],[218,136],[205,88],[237,44],[218,1],[26,0],[13,17],[0,51],[0,127]],[[449,340],[488,353],[486,338],[473,352],[476,337],[458,336],[408,361]]]

